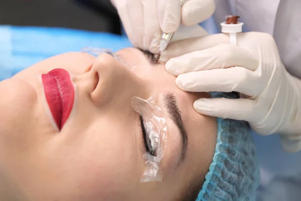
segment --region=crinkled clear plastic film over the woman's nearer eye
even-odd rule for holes
[[[140,182],[162,181],[160,162],[167,146],[167,123],[164,112],[152,96],[146,100],[132,97],[131,105],[143,118],[149,149],[149,152],[143,154],[146,167]]]

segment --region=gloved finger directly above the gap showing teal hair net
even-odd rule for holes
[[[260,77],[243,67],[188,72],[179,75],[176,84],[184,91],[237,91],[251,97],[262,88]]]

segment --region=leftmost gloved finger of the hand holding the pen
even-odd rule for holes
[[[144,14],[141,0],[122,0],[115,3],[115,6],[130,42],[134,47],[142,48],[140,44],[144,34]],[[132,23],[133,19],[135,23]]]

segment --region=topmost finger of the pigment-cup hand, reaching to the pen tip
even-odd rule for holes
[[[199,38],[189,38],[186,40],[171,42],[167,49],[161,54],[161,61],[167,62],[169,59],[178,57],[183,54],[204,50],[214,47],[221,43],[230,43],[229,35],[227,34],[210,34]]]

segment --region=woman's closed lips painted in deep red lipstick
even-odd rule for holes
[[[42,74],[47,104],[59,130],[70,116],[74,103],[74,86],[70,74],[61,68]]]

